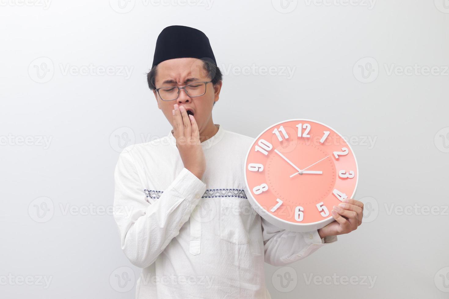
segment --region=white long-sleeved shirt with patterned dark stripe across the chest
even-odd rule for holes
[[[172,131],[119,156],[114,219],[124,254],[143,268],[138,299],[270,299],[264,262],[291,264],[337,241],[260,217],[243,173],[254,138],[216,126],[201,143],[207,168],[201,180],[184,168]]]

